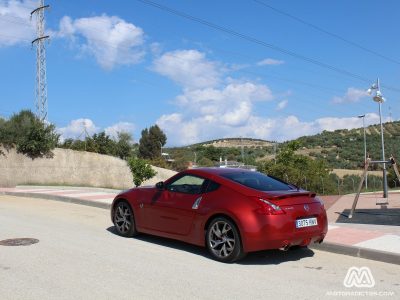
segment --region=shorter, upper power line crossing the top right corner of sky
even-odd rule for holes
[[[263,6],[265,6],[265,7],[269,8],[269,9],[271,9],[271,10],[273,10],[274,12],[276,12],[276,13],[278,13],[278,14],[281,14],[281,15],[283,15],[283,16],[286,16],[286,17],[288,17],[288,18],[290,18],[290,19],[292,19],[292,20],[295,20],[295,21],[297,21],[297,22],[299,22],[299,23],[301,23],[301,24],[304,24],[304,25],[306,25],[306,26],[308,26],[308,27],[311,27],[311,28],[313,28],[313,29],[316,30],[316,31],[322,32],[322,33],[324,33],[324,34],[326,34],[326,35],[329,35],[330,37],[333,37],[333,38],[335,38],[335,39],[337,39],[337,40],[340,40],[340,41],[342,41],[342,42],[345,42],[346,44],[349,44],[349,45],[351,45],[351,46],[353,46],[353,47],[355,47],[355,48],[361,49],[361,50],[363,50],[363,51],[365,51],[365,52],[368,52],[368,53],[370,53],[370,54],[373,54],[373,55],[375,55],[375,56],[378,56],[378,57],[380,57],[380,58],[382,58],[382,59],[384,59],[384,60],[386,60],[386,61],[389,61],[389,62],[392,62],[392,63],[395,63],[395,64],[400,65],[400,62],[397,61],[397,60],[395,60],[395,59],[393,59],[393,58],[390,58],[390,57],[388,57],[388,56],[386,56],[386,55],[380,54],[379,52],[376,52],[375,50],[368,49],[367,47],[364,47],[364,46],[362,46],[362,45],[360,45],[360,44],[358,44],[358,43],[356,43],[356,42],[350,41],[350,40],[348,40],[348,39],[346,39],[346,38],[344,38],[344,37],[342,37],[342,36],[340,36],[340,35],[338,35],[338,34],[336,34],[336,33],[332,33],[332,32],[330,32],[330,31],[328,31],[328,30],[325,30],[325,29],[323,29],[323,28],[317,26],[317,25],[314,25],[314,24],[312,24],[312,23],[310,23],[310,22],[307,22],[307,21],[305,21],[304,19],[301,19],[301,18],[299,18],[299,17],[296,17],[296,16],[294,16],[294,15],[292,15],[292,14],[289,14],[289,13],[283,11],[283,10],[277,9],[277,8],[275,8],[275,7],[273,7],[273,6],[271,6],[271,5],[267,4],[267,3],[265,3],[264,1],[261,1],[261,0],[253,0],[253,1],[256,2],[256,3],[259,3],[259,4],[263,5]]]

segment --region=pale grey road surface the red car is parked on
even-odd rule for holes
[[[211,260],[200,247],[114,234],[104,209],[0,196],[1,299],[321,299],[331,292],[395,293],[400,269],[308,249],[264,251],[236,264]],[[345,288],[349,267],[370,268],[373,288]],[[327,294],[328,293],[328,294]],[[364,296],[365,297],[365,296]],[[386,298],[386,297],[380,297]]]

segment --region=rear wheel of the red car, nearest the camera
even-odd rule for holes
[[[206,233],[207,249],[218,261],[232,263],[244,257],[239,230],[230,220],[218,217],[211,221]]]

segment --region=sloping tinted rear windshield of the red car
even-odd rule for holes
[[[259,172],[232,172],[221,174],[221,176],[259,191],[288,191],[293,189],[285,182]]]

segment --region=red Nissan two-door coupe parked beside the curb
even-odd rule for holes
[[[243,169],[199,168],[119,194],[111,207],[118,234],[139,232],[206,246],[233,262],[247,252],[321,243],[322,201],[274,177]]]

